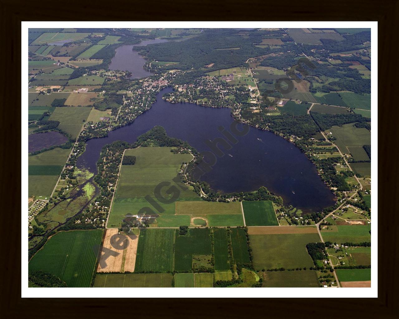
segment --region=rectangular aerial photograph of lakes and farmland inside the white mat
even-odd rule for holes
[[[371,289],[371,28],[89,26],[25,32],[26,289]]]

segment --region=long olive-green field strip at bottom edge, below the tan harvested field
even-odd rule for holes
[[[172,274],[97,274],[94,287],[172,287]]]

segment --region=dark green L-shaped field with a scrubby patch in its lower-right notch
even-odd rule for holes
[[[191,271],[193,255],[210,256],[211,254],[210,229],[190,228],[186,236],[180,236],[179,231],[176,230],[174,270]]]

